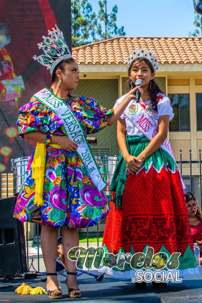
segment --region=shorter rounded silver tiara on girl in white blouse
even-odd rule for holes
[[[137,58],[148,59],[151,62],[151,64],[153,65],[154,71],[158,72],[159,63],[158,63],[157,57],[152,52],[150,52],[146,49],[143,49],[143,48],[138,49],[130,54],[130,56],[128,58],[128,68],[130,67],[131,63]]]

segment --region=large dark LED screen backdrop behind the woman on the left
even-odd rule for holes
[[[17,136],[19,108],[50,87],[51,74],[33,60],[37,44],[57,24],[71,49],[71,0],[0,0],[0,173],[30,156],[34,142]]]

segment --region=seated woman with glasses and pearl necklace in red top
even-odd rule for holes
[[[200,248],[200,261],[202,264],[202,214],[195,195],[188,192],[185,197],[187,214],[191,227],[193,243],[197,242]]]

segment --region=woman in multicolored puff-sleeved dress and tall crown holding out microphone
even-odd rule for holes
[[[109,111],[92,98],[71,95],[69,90],[75,89],[79,82],[78,64],[57,26],[49,31],[49,37],[43,38],[44,42],[39,44],[43,54],[34,59],[50,70],[52,86],[36,93],[19,111],[19,135],[37,142],[37,146],[28,164],[14,217],[42,224],[41,247],[50,298],[62,298],[55,274],[61,227],[69,296],[77,298],[81,291],[76,281],[76,262],[68,258],[68,251],[79,246],[77,228],[99,224],[109,213],[103,192],[106,183],[86,135],[112,125],[135,98],[137,88]]]

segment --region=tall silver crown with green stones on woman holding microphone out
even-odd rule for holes
[[[51,75],[60,61],[66,58],[72,58],[64,36],[58,26],[56,25],[56,29],[52,29],[52,32],[48,30],[49,37],[43,36],[43,42],[38,43],[39,49],[42,48],[43,50],[42,55],[38,57],[35,55],[33,57],[34,60],[37,60],[40,64],[46,66],[51,72]]]

